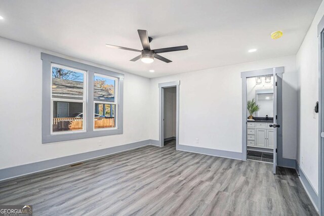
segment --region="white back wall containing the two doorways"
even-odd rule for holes
[[[242,152],[242,71],[285,66],[283,92],[283,155],[296,158],[296,56],[182,73],[151,79],[151,139],[158,140],[158,83],[180,80],[179,144]],[[195,139],[199,139],[197,144]]]

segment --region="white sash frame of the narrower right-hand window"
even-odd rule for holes
[[[93,130],[94,131],[103,131],[103,130],[111,130],[111,129],[115,129],[118,128],[118,78],[113,77],[113,76],[107,76],[104,74],[100,74],[100,73],[95,73],[93,77],[95,76],[100,76],[103,78],[107,78],[107,79],[112,79],[115,81],[115,86],[114,86],[114,102],[108,102],[108,101],[96,101],[96,99],[94,98],[94,102],[93,102],[93,108],[94,108],[94,112],[93,114],[95,115],[95,107],[96,104],[112,104],[115,105],[115,113],[114,113],[114,118],[115,118],[115,126],[114,127],[107,127],[107,128],[95,128],[95,117],[93,118]]]

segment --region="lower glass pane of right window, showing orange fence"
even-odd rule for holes
[[[95,128],[115,127],[115,104],[95,104]]]

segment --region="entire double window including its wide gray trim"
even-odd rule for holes
[[[42,53],[43,143],[123,134],[124,75]]]

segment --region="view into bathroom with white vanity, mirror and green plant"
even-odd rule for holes
[[[273,76],[247,78],[247,159],[273,163]]]

